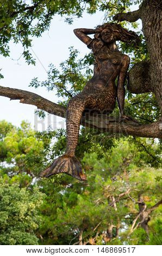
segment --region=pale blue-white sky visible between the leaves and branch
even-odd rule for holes
[[[28,90],[45,97],[48,100],[57,102],[55,92],[47,92],[46,88],[30,88],[29,83],[34,77],[38,77],[40,81],[47,78],[46,70],[48,65],[53,63],[57,68],[60,62],[63,62],[69,56],[68,47],[74,46],[80,52],[80,57],[89,53],[89,49],[83,44],[73,33],[74,28],[94,28],[103,23],[104,14],[97,12],[95,15],[84,14],[82,18],[76,19],[72,25],[64,22],[64,19],[59,15],[55,15],[52,20],[48,32],[42,34],[40,38],[34,38],[32,50],[35,52],[36,65],[27,65],[23,58],[18,59],[22,53],[20,44],[10,44],[11,56],[4,58],[1,56],[1,72],[4,79],[0,81],[0,85],[4,87],[17,88]],[[39,60],[40,62],[39,62]],[[42,65],[43,66],[42,66]],[[10,121],[16,126],[20,126],[22,120],[28,120],[34,128],[34,111],[36,107],[19,103],[19,100],[9,100],[7,97],[0,96],[0,120]],[[38,117],[36,117],[37,119]],[[35,120],[36,120],[35,119]],[[48,119],[48,120],[47,120]],[[49,115],[43,121],[43,124],[38,124],[38,130],[47,129],[48,125],[65,128],[65,119]],[[36,122],[35,122],[36,125]]]

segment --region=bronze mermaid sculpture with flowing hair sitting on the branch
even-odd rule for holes
[[[63,156],[55,159],[47,169],[40,174],[49,177],[57,173],[66,173],[78,180],[86,180],[82,167],[75,157],[78,144],[80,119],[92,109],[110,114],[115,108],[116,99],[120,109],[120,119],[130,119],[124,114],[124,82],[130,63],[130,58],[121,53],[116,41],[136,42],[138,35],[127,31],[116,23],[106,23],[96,29],[78,28],[74,34],[90,48],[95,56],[94,76],[86,83],[82,93],[72,97],[68,102],[66,112],[67,146]],[[94,39],[89,34],[95,34]],[[118,77],[117,86],[115,80]]]

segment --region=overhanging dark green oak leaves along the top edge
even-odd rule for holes
[[[1,0],[0,1],[0,54],[7,57],[10,54],[9,42],[15,44],[21,42],[23,46],[23,57],[28,64],[35,64],[35,60],[29,51],[32,46],[33,36],[41,36],[49,29],[51,20],[55,14],[65,17],[65,21],[72,23],[75,17],[82,17],[83,11],[94,14],[99,9],[106,10],[105,16],[112,16],[116,12],[125,11],[134,1],[113,0]],[[137,1],[139,2],[139,1]],[[107,11],[107,9],[109,11]]]

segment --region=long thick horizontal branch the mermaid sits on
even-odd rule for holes
[[[66,118],[66,108],[52,101],[49,101],[35,93],[25,90],[13,89],[0,86],[0,96],[9,97],[11,100],[20,100],[20,103],[34,105],[50,114]],[[118,118],[108,115],[89,115],[83,117],[81,124],[84,126],[110,132],[111,134],[132,135],[146,138],[162,138],[162,123],[156,121],[149,125],[140,125],[134,121],[124,121],[119,123]]]

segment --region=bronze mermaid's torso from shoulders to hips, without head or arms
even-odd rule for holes
[[[107,109],[107,112],[111,113],[115,108],[117,96],[115,80],[119,75],[123,54],[119,51],[110,52],[107,46],[95,49],[91,44],[88,47],[92,48],[95,55],[94,76],[86,83],[81,94],[90,96],[91,100],[87,108]],[[93,97],[96,100],[92,100]]]

